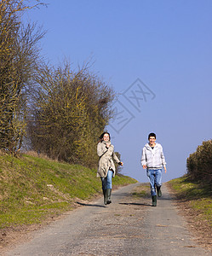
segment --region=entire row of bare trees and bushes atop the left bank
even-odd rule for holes
[[[74,71],[67,61],[58,67],[43,61],[39,43],[45,32],[21,21],[40,4],[0,1],[0,148],[17,154],[25,147],[95,166],[98,137],[112,118],[114,91],[90,72],[89,63]]]

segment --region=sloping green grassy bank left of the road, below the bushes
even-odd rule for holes
[[[136,183],[126,176],[113,186]],[[101,193],[96,170],[24,154],[0,155],[0,229],[37,224]]]

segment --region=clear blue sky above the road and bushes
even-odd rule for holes
[[[147,182],[140,155],[152,131],[167,161],[163,182],[186,173],[186,158],[211,139],[212,1],[49,0],[24,18],[47,30],[46,60],[94,61],[119,95],[107,131],[123,174]]]

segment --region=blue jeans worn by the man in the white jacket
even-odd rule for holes
[[[149,182],[151,185],[151,195],[157,195],[156,187],[161,186],[162,169],[147,169],[146,175],[149,178]]]

